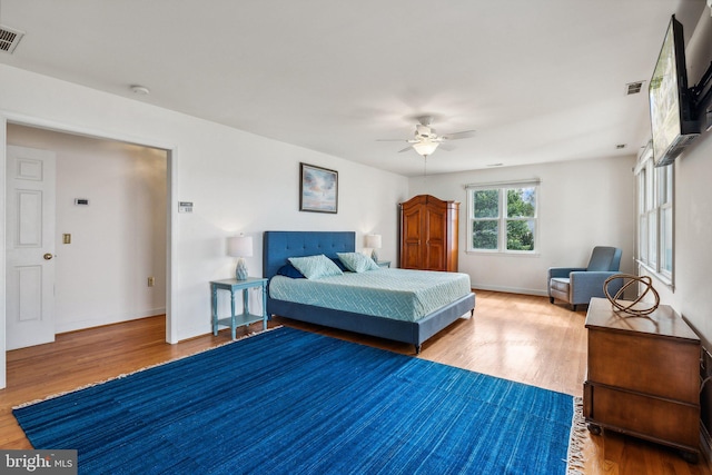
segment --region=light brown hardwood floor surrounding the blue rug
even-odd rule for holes
[[[419,357],[581,396],[585,375],[585,309],[571,311],[545,297],[477,290],[475,316],[423,345]],[[411,345],[274,318],[379,348],[414,354]],[[258,331],[259,324],[244,334]],[[239,335],[239,330],[238,330]],[[31,448],[12,407],[131,373],[229,342],[229,330],[178,345],[165,343],[165,318],[150,317],[57,336],[57,342],[8,353],[8,387],[0,390],[0,447]],[[536,436],[536,434],[533,434]],[[712,475],[710,464],[685,463],[674,451],[614,433],[586,433],[586,474]]]

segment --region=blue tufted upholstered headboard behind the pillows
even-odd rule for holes
[[[356,250],[354,231],[265,231],[263,240],[263,274],[267,278],[274,277],[288,257],[336,257],[336,253]]]

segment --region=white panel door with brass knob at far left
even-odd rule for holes
[[[55,342],[55,152],[8,146],[7,349]]]

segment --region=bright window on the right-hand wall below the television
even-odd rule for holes
[[[663,281],[673,283],[673,170],[655,167],[646,149],[637,177],[637,261]]]

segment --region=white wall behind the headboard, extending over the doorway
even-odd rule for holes
[[[0,115],[11,121],[170,150],[168,311],[177,340],[210,331],[208,281],[231,276],[225,239],[235,232],[255,237],[255,256],[247,259],[254,275],[261,275],[267,229],[355,230],[357,247],[364,234],[379,232],[382,257],[396,256],[405,177],[4,65],[0,83]],[[299,211],[300,161],[339,172],[338,214]],[[194,201],[194,212],[177,214],[177,201]],[[0,319],[4,327],[4,313]]]

